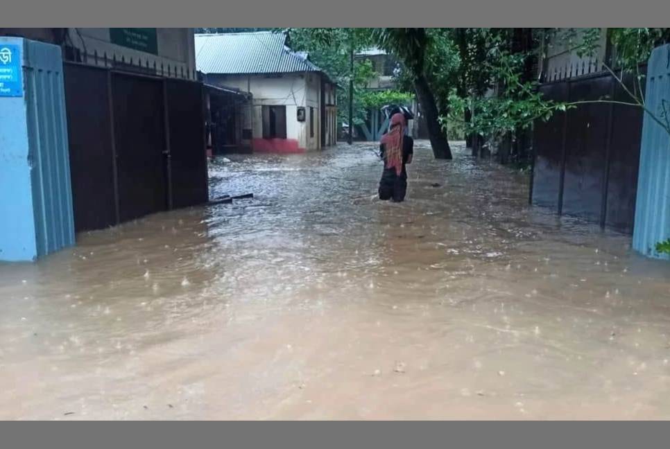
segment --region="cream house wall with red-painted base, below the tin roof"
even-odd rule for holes
[[[304,152],[320,149],[320,76],[316,73],[282,75],[213,75],[207,82],[250,92],[250,121],[255,152]],[[286,139],[263,139],[262,107],[286,106]],[[305,107],[305,121],[298,121],[298,107]],[[314,108],[314,136],[309,134],[309,107]]]

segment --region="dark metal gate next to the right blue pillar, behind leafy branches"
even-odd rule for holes
[[[624,82],[632,90],[637,81],[630,76]],[[606,99],[631,102],[609,73],[550,82],[540,91],[551,100],[594,103],[535,123],[531,202],[630,234],[642,109],[599,103]]]

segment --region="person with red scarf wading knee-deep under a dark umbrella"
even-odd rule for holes
[[[411,164],[414,139],[405,135],[407,121],[398,112],[390,118],[390,130],[381,137],[379,151],[384,160],[384,172],[379,181],[379,199],[401,202],[407,192],[406,164]]]

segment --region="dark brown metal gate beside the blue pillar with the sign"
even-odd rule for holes
[[[207,201],[199,82],[65,64],[76,231]]]

